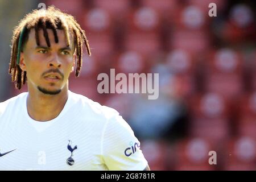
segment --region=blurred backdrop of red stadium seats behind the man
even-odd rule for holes
[[[11,31],[39,3],[72,14],[86,31],[69,88],[114,107],[141,140],[152,170],[256,169],[254,1],[0,0],[0,101],[20,92],[7,73]],[[216,3],[217,17],[208,15]],[[97,75],[159,73],[159,98],[98,94]],[[209,151],[217,165],[209,165]]]

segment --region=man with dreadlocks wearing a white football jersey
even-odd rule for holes
[[[28,92],[0,103],[0,170],[149,170],[119,113],[68,90],[90,48],[73,16],[34,10],[14,30],[9,73]]]

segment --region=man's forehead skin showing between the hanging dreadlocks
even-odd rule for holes
[[[58,43],[55,43],[55,37],[54,37],[52,29],[47,28],[46,31],[48,33],[48,38],[49,38],[49,42],[51,43],[51,47],[52,46],[67,47],[67,41],[66,41],[65,31],[64,30],[59,30],[59,29],[56,30],[57,38],[59,40]],[[47,47],[46,38],[44,37],[44,31],[42,29],[38,30],[38,37],[39,37],[40,46]],[[74,47],[74,45],[73,45],[73,34],[68,32],[68,37],[69,37],[69,42],[71,44],[71,48],[73,48]],[[30,33],[28,34],[28,42],[27,42],[27,44],[29,46],[37,46],[37,44],[36,44],[36,36],[35,36],[35,29],[34,28],[32,28],[30,30]]]

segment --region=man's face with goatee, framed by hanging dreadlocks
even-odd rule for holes
[[[58,94],[67,86],[69,74],[73,71],[75,46],[69,35],[71,45],[67,47],[64,30],[57,30],[59,43],[55,43],[53,31],[47,29],[51,47],[47,47],[43,30],[39,30],[40,46],[37,46],[35,30],[31,29],[28,41],[20,53],[20,68],[27,72],[30,89],[44,94]]]

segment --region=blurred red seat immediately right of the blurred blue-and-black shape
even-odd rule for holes
[[[229,137],[229,104],[221,96],[215,93],[196,96],[189,107],[189,135],[207,138],[214,144]]]

